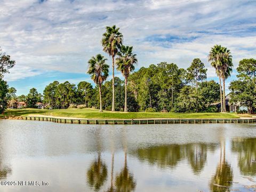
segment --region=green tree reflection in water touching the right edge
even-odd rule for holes
[[[238,153],[238,166],[243,175],[256,175],[256,138],[234,138],[231,150]]]

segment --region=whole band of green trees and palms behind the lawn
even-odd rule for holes
[[[95,83],[94,87],[89,82],[75,85],[54,81],[45,87],[43,95],[35,88],[28,95],[19,97],[16,97],[13,87],[7,91],[8,94],[4,91],[2,93],[9,101],[26,101],[27,107],[35,107],[36,102],[44,102],[49,103],[53,109],[79,106],[93,107],[100,111],[215,112],[219,109],[212,103],[220,101],[220,111],[226,111],[226,79],[233,70],[232,55],[227,47],[214,45],[207,55],[219,78],[219,83],[216,83],[206,80],[207,69],[199,58],[195,58],[187,69],[179,68],[175,63],[161,62],[134,71],[138,63],[137,55],[133,53],[132,46],[123,45],[123,38],[116,26],[106,27],[102,34],[103,51],[110,56],[112,63],[110,81],[106,81],[109,76],[107,58],[97,54],[88,61],[87,70]],[[2,79],[3,74],[15,65],[15,61],[11,61],[9,55],[2,55],[1,58]],[[121,71],[124,81],[115,77],[115,68]],[[229,86],[230,101],[246,106],[250,113],[256,109],[255,71],[254,59],[240,61],[237,80]],[[5,85],[2,83],[1,86]],[[12,102],[9,104],[13,105]]]

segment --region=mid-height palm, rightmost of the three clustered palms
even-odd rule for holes
[[[132,53],[132,46],[121,46],[116,58],[117,70],[121,71],[125,82],[125,101],[124,111],[127,112],[127,79],[131,71],[134,70],[134,64],[138,62],[136,54]]]

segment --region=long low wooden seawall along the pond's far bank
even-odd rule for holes
[[[233,119],[65,119],[54,117],[30,117],[22,119],[31,121],[48,121],[70,124],[204,124],[204,123],[256,123],[256,118]]]

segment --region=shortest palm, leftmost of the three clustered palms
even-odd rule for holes
[[[100,112],[102,112],[102,103],[101,103],[101,85],[108,77],[108,68],[106,60],[101,54],[97,54],[95,57],[92,57],[89,63],[89,69],[87,71],[88,74],[91,75],[94,83],[99,85],[100,92]]]

